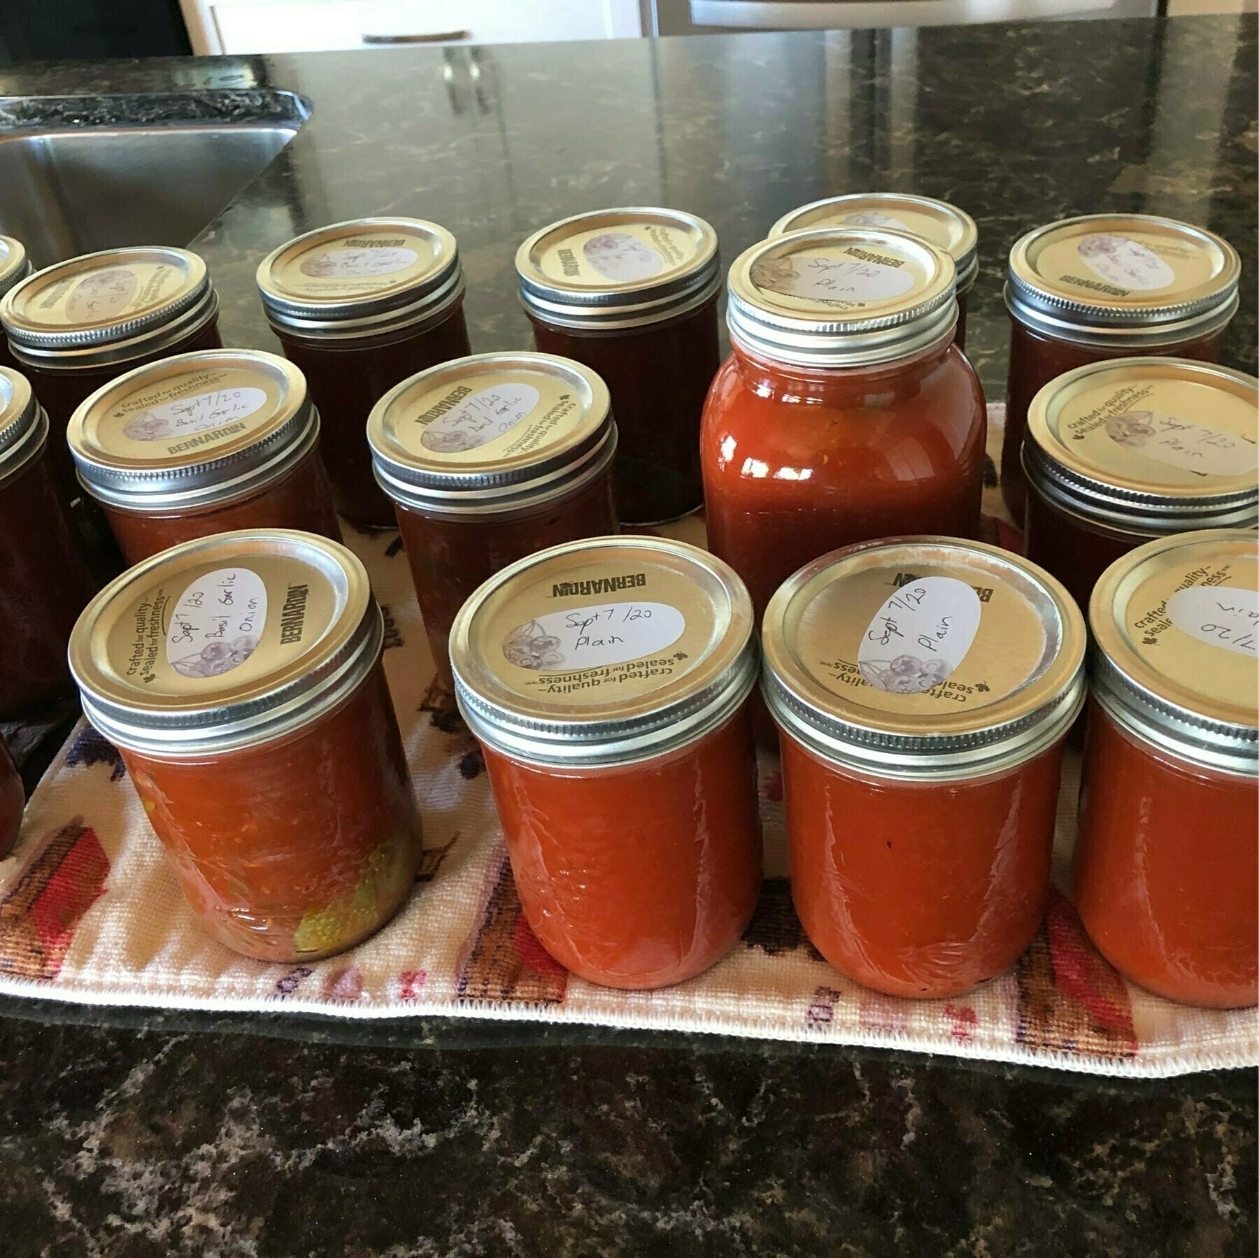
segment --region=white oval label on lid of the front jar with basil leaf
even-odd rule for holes
[[[185,677],[218,677],[253,655],[266,623],[267,587],[256,572],[208,572],[171,607],[166,661]]]

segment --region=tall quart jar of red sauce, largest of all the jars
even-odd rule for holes
[[[919,237],[821,228],[730,267],[730,356],[704,408],[709,544],[758,616],[838,547],[980,529],[983,390],[953,343],[953,261]]]

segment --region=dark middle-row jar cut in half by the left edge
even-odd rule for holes
[[[30,383],[0,368],[0,720],[74,693],[65,646],[97,589],[48,439]]]

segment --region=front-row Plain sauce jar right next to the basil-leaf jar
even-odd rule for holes
[[[752,603],[695,547],[596,538],[486,582],[451,632],[525,918],[573,973],[663,987],[760,890]]]

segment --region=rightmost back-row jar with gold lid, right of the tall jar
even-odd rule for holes
[[[1031,399],[1055,377],[1105,359],[1215,361],[1236,314],[1239,271],[1219,235],[1146,214],[1069,218],[1015,243],[1001,492],[1016,521],[1026,510],[1020,455]]]

